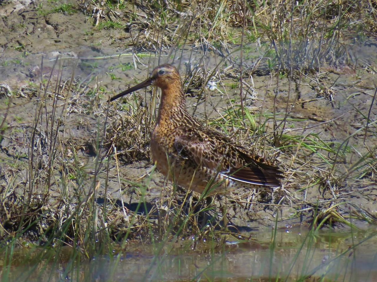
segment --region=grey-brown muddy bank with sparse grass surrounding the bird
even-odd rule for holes
[[[117,210],[116,215],[123,216],[122,227],[127,226],[128,211],[139,211],[140,202],[162,215],[163,210],[180,206],[186,196],[195,201],[198,195],[186,195],[158,172],[139,180],[152,168],[148,144],[159,101],[154,90],[139,91],[110,105],[106,102],[145,79],[159,62],[172,62],[175,56],[189,92],[189,112],[253,153],[267,158],[278,155],[277,162],[286,172],[282,188],[276,191],[241,188],[226,197],[234,226],[258,230],[274,226],[276,219],[280,227],[311,226],[321,219],[331,226],[334,222],[326,219],[329,214],[337,218],[340,228],[347,222],[364,228],[374,221],[375,39],[350,44],[348,64],[338,67],[324,66],[294,79],[245,77],[243,103],[255,126],[250,119],[237,121],[242,117],[234,110],[241,103],[239,79],[232,74],[238,67],[226,69],[229,58],[214,50],[203,55],[204,48],[195,45],[159,55],[152,48],[137,49],[136,56],[135,35],[129,28],[98,29],[79,9],[74,14],[43,12],[55,6],[47,1],[0,6],[4,15],[0,39],[3,193],[12,191],[15,199],[22,195],[35,203],[47,197],[44,203],[56,214],[66,207],[66,197],[77,200],[90,195]],[[246,65],[260,54],[256,44],[249,48]],[[263,130],[256,130],[261,125]],[[127,133],[117,158],[114,151],[107,155],[111,136],[105,132],[110,127]],[[5,202],[11,197],[3,195],[5,206],[11,205]],[[219,203],[211,204],[214,209],[209,216],[218,218]],[[319,213],[323,216],[317,218]]]

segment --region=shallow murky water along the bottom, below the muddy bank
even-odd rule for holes
[[[274,239],[272,238],[274,236]],[[2,281],[288,280],[375,281],[376,232],[258,232],[247,241],[127,245],[90,260],[64,248],[50,260],[14,255]],[[272,243],[274,242],[274,243]],[[39,252],[33,250],[32,252]],[[72,258],[74,256],[75,258]],[[49,256],[47,256],[49,257]],[[4,265],[4,261],[3,261]]]

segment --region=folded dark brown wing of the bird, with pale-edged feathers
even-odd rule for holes
[[[208,131],[208,132],[207,132]],[[282,172],[273,163],[248,152],[228,137],[207,128],[175,139],[177,153],[197,166],[219,171],[222,175],[244,183],[280,186]]]

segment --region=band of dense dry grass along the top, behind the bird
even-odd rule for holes
[[[245,46],[253,41],[269,40],[261,45],[263,57],[268,64],[261,64],[262,73],[317,71],[322,67],[349,64],[347,42],[354,35],[365,38],[369,30],[375,30],[377,11],[369,1],[333,2],[294,2],[278,1],[267,3],[255,1],[221,2],[193,1],[184,3],[149,0],[145,3],[133,2],[134,6],[144,7],[145,14],[129,12],[124,2],[87,1],[86,11],[94,11],[98,6],[101,18],[118,23],[118,12],[123,10],[139,26],[132,40],[133,48],[143,46],[150,50],[169,50],[172,46],[194,44],[205,52],[214,53],[236,64],[245,64],[239,56],[234,56],[229,44],[241,44],[241,52],[247,53]],[[103,5],[103,6],[101,6]],[[108,12],[105,12],[108,11]],[[149,24],[145,25],[145,20]],[[134,35],[133,35],[134,36]],[[237,46],[237,45],[235,45]],[[234,46],[234,47],[235,47]],[[246,64],[246,68],[250,65]],[[258,72],[258,70],[256,70]]]

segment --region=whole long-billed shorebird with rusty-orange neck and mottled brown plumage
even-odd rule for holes
[[[110,99],[148,85],[161,88],[161,103],[150,152],[158,170],[186,189],[226,192],[247,187],[280,186],[282,172],[273,163],[249,152],[228,137],[202,126],[186,110],[178,70],[164,64],[140,84]],[[241,182],[241,183],[239,183]],[[239,184],[237,184],[239,183]]]

